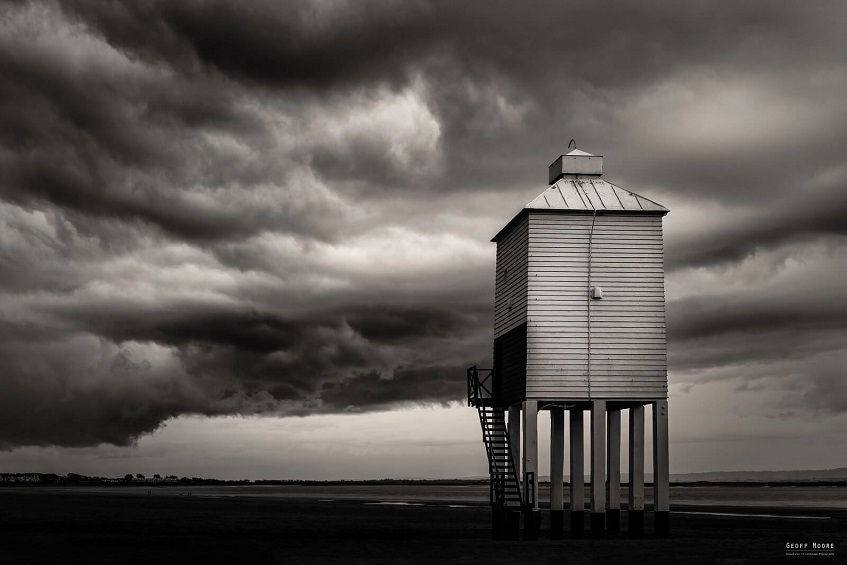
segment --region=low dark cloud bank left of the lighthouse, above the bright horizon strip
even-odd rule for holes
[[[479,331],[468,316],[437,309],[316,312],[308,319],[172,305],[51,313],[53,326],[0,324],[0,448],[126,445],[180,414],[307,415],[453,401],[464,394],[463,365],[392,369],[393,360],[449,359],[426,340]],[[170,359],[164,366],[162,356]]]

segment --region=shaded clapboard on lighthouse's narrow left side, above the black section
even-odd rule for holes
[[[529,220],[524,216],[497,241],[495,338],[526,322],[528,226]]]

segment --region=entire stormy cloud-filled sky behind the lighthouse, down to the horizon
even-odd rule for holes
[[[0,470],[485,474],[489,240],[571,138],[671,210],[671,471],[847,466],[845,29],[835,1],[3,1]]]

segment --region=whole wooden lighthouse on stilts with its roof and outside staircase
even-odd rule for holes
[[[670,529],[662,217],[668,210],[602,178],[574,149],[549,186],[494,236],[494,367],[468,370],[491,475],[494,536],[539,535],[538,412],[550,412],[550,528],[564,531],[565,422],[570,531],[584,531],[584,412],[590,532],[621,529],[621,417],[629,418],[627,530],[644,532],[645,407],[653,419],[653,530]],[[567,414],[567,415],[566,415]]]

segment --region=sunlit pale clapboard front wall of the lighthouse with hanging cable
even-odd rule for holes
[[[529,214],[527,398],[666,398],[661,215],[593,221],[592,235],[590,214]],[[590,304],[589,241],[604,294]]]

